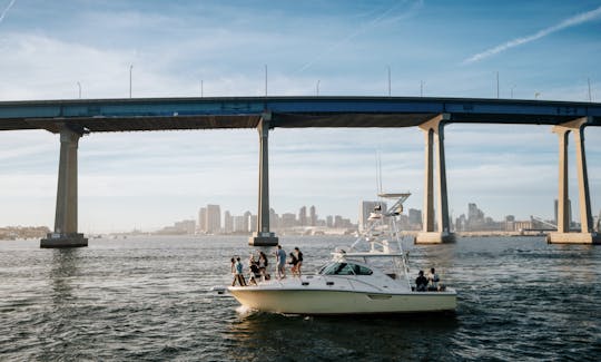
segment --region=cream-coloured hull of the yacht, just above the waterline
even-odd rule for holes
[[[377,314],[454,311],[456,293],[229,287],[240,304],[253,310],[285,314]]]

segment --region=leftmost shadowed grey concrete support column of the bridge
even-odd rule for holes
[[[77,232],[77,147],[81,134],[62,126],[55,232],[40,241],[40,247],[88,246]]]

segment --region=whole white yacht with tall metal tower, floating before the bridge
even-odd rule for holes
[[[395,199],[390,212],[375,209],[370,227],[348,248],[337,248],[314,275],[229,286],[240,304],[286,314],[374,314],[454,311],[456,292],[440,285],[416,291],[408,276],[396,217],[411,194],[381,194]],[[394,245],[396,244],[396,245]]]

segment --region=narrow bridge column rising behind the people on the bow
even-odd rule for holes
[[[257,232],[248,239],[253,246],[276,246],[278,238],[269,231],[269,121],[270,114],[264,114],[257,130],[259,134],[259,192]]]

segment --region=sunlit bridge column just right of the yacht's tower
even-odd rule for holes
[[[449,200],[446,193],[446,165],[444,158],[444,125],[449,114],[442,114],[420,125],[425,135],[425,173],[424,173],[424,214],[423,231],[417,234],[416,244],[453,243],[455,235],[451,233],[449,222]],[[436,145],[436,196],[437,229],[434,223],[434,151]]]

